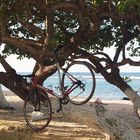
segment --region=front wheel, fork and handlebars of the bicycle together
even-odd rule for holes
[[[51,101],[48,94],[36,83],[37,77],[33,75],[22,75],[22,77],[30,79],[29,94],[23,105],[24,118],[27,125],[38,132],[45,129],[51,121]]]

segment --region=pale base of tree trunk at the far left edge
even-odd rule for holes
[[[0,84],[0,108],[2,109],[13,109],[13,107],[10,106],[8,101],[6,100],[4,93],[2,92],[2,86]]]

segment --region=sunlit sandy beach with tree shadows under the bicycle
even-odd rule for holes
[[[0,110],[0,140],[103,140],[100,132],[87,127],[82,122],[73,122],[67,116],[53,116],[48,128],[35,133],[30,130],[23,118],[23,101],[15,94],[5,93],[15,110]],[[95,99],[90,101],[90,104]],[[133,111],[129,100],[102,100],[106,109],[123,117],[140,134],[140,120]],[[91,107],[91,106],[89,106]]]

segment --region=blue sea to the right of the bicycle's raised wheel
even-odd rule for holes
[[[135,91],[140,89],[140,73],[121,73],[123,77],[129,77],[128,83]],[[138,92],[139,93],[139,92]],[[123,99],[126,95],[116,86],[108,83],[102,76],[96,76],[96,90],[94,97],[103,99]]]

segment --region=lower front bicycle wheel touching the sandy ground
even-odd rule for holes
[[[48,95],[46,95],[46,93],[43,93],[43,91],[39,88],[37,89],[37,92],[40,94],[39,96],[41,100],[36,100],[36,102],[38,103],[35,104],[39,104],[39,110],[34,110],[35,93],[33,92],[29,93],[23,106],[25,121],[27,125],[36,132],[45,129],[49,125],[52,117],[52,106]]]

